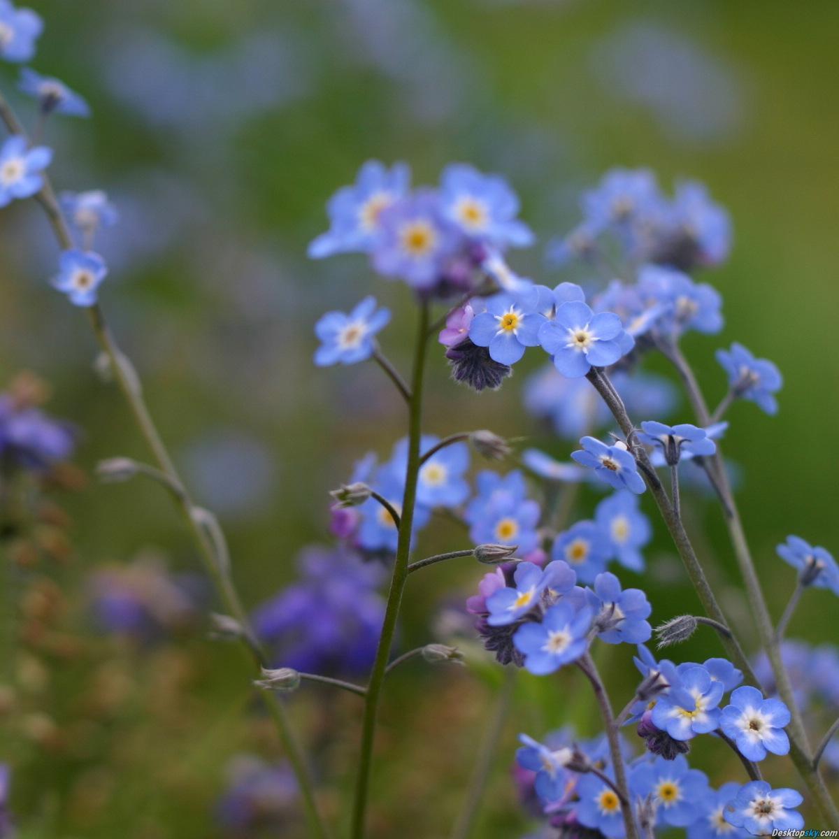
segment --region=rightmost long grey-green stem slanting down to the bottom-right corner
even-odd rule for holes
[[[699,425],[703,427],[710,425],[711,415],[709,414],[705,397],[702,394],[692,367],[690,367],[690,364],[681,352],[678,342],[666,341],[660,343],[659,349],[679,373],[682,383],[685,386],[685,393],[687,393]],[[755,570],[752,552],[749,550],[746,531],[743,528],[743,521],[740,519],[737,503],[734,500],[731,484],[728,481],[728,473],[725,462],[722,460],[722,448],[719,443],[717,443],[716,454],[709,460],[709,472],[713,472],[717,479],[717,486],[722,499],[723,519],[725,519],[729,538],[734,549],[734,555],[737,558],[737,565],[740,567],[740,574],[743,576],[743,583],[746,586],[748,603],[754,623],[758,629],[758,637],[763,645],[763,649],[766,650],[766,654],[769,656],[770,664],[772,664],[775,685],[777,685],[779,696],[786,706],[789,707],[792,715],[792,720],[789,725],[790,756],[796,768],[799,770],[802,779],[804,779],[805,784],[807,784],[808,789],[810,789],[810,795],[813,796],[822,819],[826,824],[839,824],[839,810],[836,809],[836,804],[819,774],[818,767],[813,764],[810,743],[807,740],[807,733],[804,727],[804,719],[795,702],[795,694],[793,693],[792,683],[789,680],[789,673],[787,673],[784,659],[781,656],[779,638],[774,631],[772,618],[769,615],[769,607],[766,605],[766,599],[763,597],[763,590],[761,589],[760,581],[758,581],[758,573]]]

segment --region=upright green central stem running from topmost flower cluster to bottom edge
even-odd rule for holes
[[[399,525],[399,541],[396,558],[393,561],[393,576],[390,580],[388,603],[384,612],[382,634],[378,641],[376,659],[367,684],[367,699],[364,703],[362,743],[358,756],[356,793],[352,807],[352,837],[363,839],[367,814],[367,796],[370,773],[373,768],[373,741],[376,737],[378,706],[382,695],[385,671],[393,644],[393,633],[399,618],[399,607],[405,582],[408,580],[408,560],[411,550],[411,534],[414,529],[414,501],[416,500],[417,477],[420,473],[420,435],[422,432],[422,392],[425,376],[425,355],[428,342],[428,301],[420,302],[420,322],[417,326],[414,349],[414,372],[411,379],[409,399],[408,466],[405,470],[405,490],[402,501],[402,520]]]

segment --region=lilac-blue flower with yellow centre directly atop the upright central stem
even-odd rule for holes
[[[373,246],[373,266],[416,289],[429,289],[443,274],[461,234],[440,210],[432,190],[417,190],[382,211]]]

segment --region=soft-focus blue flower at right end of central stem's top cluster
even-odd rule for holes
[[[472,239],[498,248],[524,248],[534,241],[530,228],[516,219],[519,199],[498,175],[451,164],[443,171],[440,203],[446,217]]]

